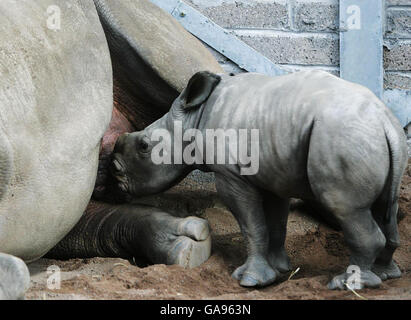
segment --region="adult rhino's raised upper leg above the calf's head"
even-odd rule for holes
[[[110,48],[115,98],[125,102],[118,107],[136,129],[166,113],[196,72],[224,72],[198,39],[149,0],[94,3]]]

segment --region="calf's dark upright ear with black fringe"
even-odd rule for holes
[[[197,72],[191,77],[187,87],[181,94],[180,101],[183,110],[201,106],[220,81],[221,77],[217,74],[208,71]]]

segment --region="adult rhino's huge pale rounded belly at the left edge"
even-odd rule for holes
[[[51,5],[59,30],[47,27]],[[33,260],[91,197],[111,62],[92,0],[2,0],[0,29],[0,252]]]

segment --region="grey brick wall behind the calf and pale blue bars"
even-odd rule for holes
[[[184,0],[273,62],[339,74],[338,0]],[[385,88],[411,90],[411,0],[386,0]],[[227,71],[238,66],[215,53]]]

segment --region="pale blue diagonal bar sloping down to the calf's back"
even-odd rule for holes
[[[235,62],[240,68],[271,76],[287,73],[285,69],[237,38],[234,32],[220,27],[185,2],[181,0],[150,1],[170,13],[190,33]]]

